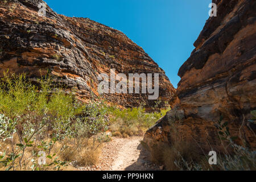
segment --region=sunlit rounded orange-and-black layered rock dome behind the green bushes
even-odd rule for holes
[[[0,1],[0,77],[3,71],[36,78],[50,73],[81,100],[98,95],[97,76],[159,73],[159,98],[170,102],[176,90],[163,69],[125,34],[88,18],[69,18],[48,6],[39,16],[41,0]],[[105,94],[121,106],[154,105],[148,94]]]

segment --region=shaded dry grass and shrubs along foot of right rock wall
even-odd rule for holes
[[[171,137],[169,142],[152,141],[150,146],[142,143],[142,146],[151,152],[151,160],[154,163],[164,164],[166,170],[255,170],[256,152],[249,148],[239,146],[233,142],[228,126],[222,119],[216,125],[218,131],[222,131],[220,137],[226,140],[227,144],[222,143],[224,148],[230,148],[229,152],[223,153],[218,150],[217,164],[210,165],[208,162],[209,156],[203,154],[199,143],[186,142],[180,137],[179,126],[182,125],[182,119],[179,115],[175,115],[170,121]],[[239,134],[238,136],[241,136]],[[241,140],[245,140],[241,137]],[[246,145],[245,145],[246,146]]]

